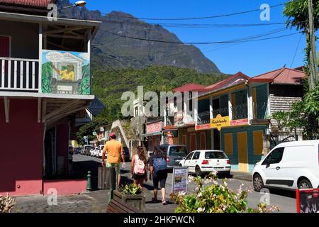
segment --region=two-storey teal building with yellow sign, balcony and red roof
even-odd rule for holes
[[[193,90],[198,92],[194,126],[179,127],[174,121],[180,143],[189,150],[225,150],[233,170],[251,171],[275,143],[295,138],[287,137],[287,132],[274,133],[278,130],[271,116],[276,111],[289,111],[291,103],[302,99],[304,76],[303,71],[286,67],[252,78],[237,72]],[[297,134],[301,139],[301,132]]]

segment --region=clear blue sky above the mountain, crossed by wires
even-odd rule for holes
[[[286,0],[86,0],[86,8],[99,10],[101,13],[123,11],[138,18],[194,18],[237,13],[259,9],[262,4],[274,6],[283,4]],[[71,1],[74,2],[74,1]],[[283,14],[284,6],[270,9],[270,21],[261,21],[260,11],[244,13],[235,16],[209,18],[189,21],[152,21],[147,23],[187,23],[187,24],[252,24],[252,23],[284,23],[287,18]],[[240,27],[240,28],[172,28],[164,26],[175,33],[182,42],[218,42],[233,40],[251,35],[272,32],[285,28],[284,24],[270,26]],[[286,28],[279,33],[264,36],[270,38],[279,35],[296,33],[296,30]],[[318,32],[316,33],[318,35]],[[317,42],[319,50],[319,41]],[[237,44],[196,45],[203,54],[215,62],[221,72],[235,74],[243,72],[253,77],[264,72],[286,67],[303,65],[306,48],[306,37],[299,33],[271,40],[260,40]],[[294,57],[296,53],[296,57]]]

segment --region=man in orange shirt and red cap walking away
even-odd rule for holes
[[[125,163],[124,153],[123,153],[123,145],[122,143],[116,140],[116,134],[110,134],[110,140],[108,140],[103,148],[102,154],[102,165],[105,166],[105,153],[107,152],[108,157],[106,160],[106,167],[115,167],[116,172],[118,174],[118,187],[120,186],[121,182],[121,157],[123,160],[123,164]]]

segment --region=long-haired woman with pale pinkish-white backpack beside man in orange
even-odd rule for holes
[[[147,182],[147,159],[142,146],[138,146],[136,149],[130,171],[133,175],[134,184],[142,189],[144,180]]]

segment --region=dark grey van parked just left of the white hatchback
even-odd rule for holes
[[[166,153],[167,169],[172,170],[174,167],[179,166],[179,162],[183,160],[188,154],[185,145],[160,145],[160,148],[164,153]],[[152,153],[149,153],[149,158]]]

